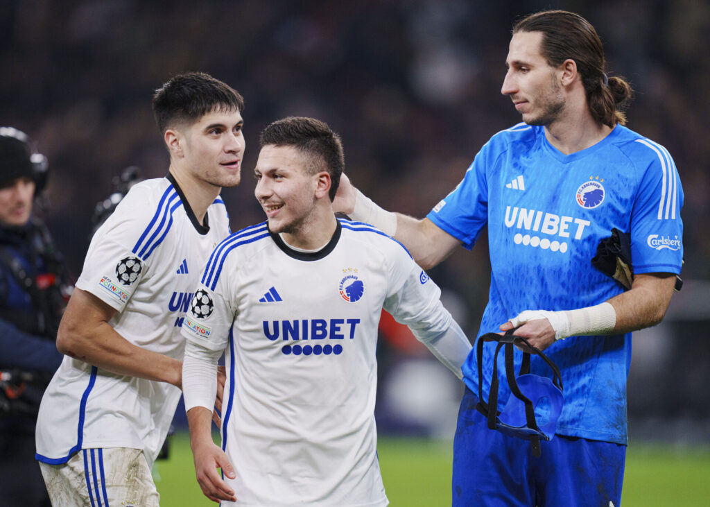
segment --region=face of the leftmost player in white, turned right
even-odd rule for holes
[[[214,187],[239,185],[246,146],[242,126],[239,111],[217,110],[193,124],[168,129],[165,136],[173,163],[193,180]]]

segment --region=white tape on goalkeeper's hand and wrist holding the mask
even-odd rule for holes
[[[611,303],[579,308],[579,310],[525,310],[510,319],[513,327],[518,327],[530,320],[547,319],[555,329],[555,339],[586,334],[609,334],[616,325],[616,310]]]

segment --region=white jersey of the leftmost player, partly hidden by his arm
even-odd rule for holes
[[[77,288],[117,310],[112,327],[129,342],[182,359],[180,325],[200,268],[229,234],[219,197],[195,214],[173,179],[139,182],[91,241]],[[38,460],[62,464],[80,449],[143,449],[158,456],[180,389],[121,376],[65,356],[42,398],[37,420]]]

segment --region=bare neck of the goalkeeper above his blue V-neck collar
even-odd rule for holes
[[[559,119],[545,126],[545,138],[565,155],[571,155],[599,143],[611,130],[592,118],[585,100],[568,103]]]

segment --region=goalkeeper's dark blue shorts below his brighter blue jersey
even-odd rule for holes
[[[489,430],[468,388],[454,437],[453,506],[599,506],[621,502],[626,445],[555,435],[540,442]]]

